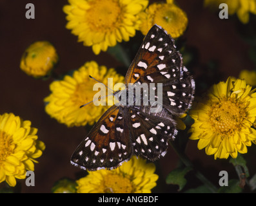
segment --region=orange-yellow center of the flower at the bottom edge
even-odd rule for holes
[[[132,193],[133,185],[129,178],[120,174],[107,174],[103,180],[105,193]]]

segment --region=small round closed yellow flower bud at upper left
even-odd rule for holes
[[[45,77],[57,64],[59,57],[48,41],[37,41],[31,44],[21,58],[21,70],[32,77]]]

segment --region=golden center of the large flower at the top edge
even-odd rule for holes
[[[122,19],[121,13],[122,8],[117,1],[95,0],[90,1],[86,19],[95,32],[108,32],[118,27]]]

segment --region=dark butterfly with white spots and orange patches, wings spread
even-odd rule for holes
[[[124,83],[127,91],[130,84],[161,83],[162,109],[153,113],[151,104],[113,105],[75,149],[72,164],[88,171],[115,169],[133,155],[155,161],[166,154],[168,140],[177,135],[175,117],[190,108],[195,82],[161,26],[155,24],[144,37]]]

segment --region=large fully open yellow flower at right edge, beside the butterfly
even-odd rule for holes
[[[256,117],[255,89],[245,80],[229,77],[226,82],[212,86],[207,96],[193,105],[190,116],[195,123],[190,139],[199,140],[197,147],[205,147],[214,158],[237,157],[247,153],[256,130],[251,126]]]

